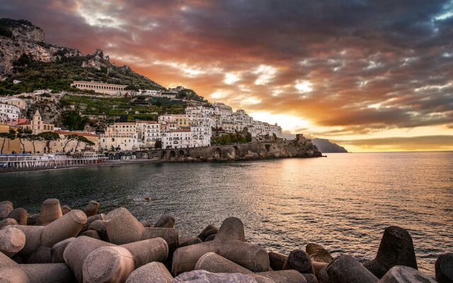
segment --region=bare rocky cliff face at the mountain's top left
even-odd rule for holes
[[[44,31],[25,20],[0,19],[0,80],[14,74],[14,63],[21,57],[55,62],[61,57],[81,56],[76,49],[46,42]]]

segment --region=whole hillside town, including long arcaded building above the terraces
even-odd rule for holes
[[[169,100],[176,100],[176,93],[184,89],[178,86],[168,90],[127,90],[124,85],[96,81],[74,81],[71,86],[93,91],[82,93],[83,96],[144,96]],[[244,110],[233,111],[224,103],[200,105],[188,100],[184,113],[162,114],[156,120],[113,122],[103,129],[62,129],[46,121],[39,110],[35,110],[31,119],[25,117],[33,103],[50,100],[57,104],[66,95],[64,91],[38,90],[0,97],[1,154],[188,149],[282,137],[280,126],[253,120]]]

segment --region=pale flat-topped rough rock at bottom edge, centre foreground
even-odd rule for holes
[[[241,273],[212,273],[206,270],[193,270],[185,272],[173,279],[173,283],[190,283],[190,282],[203,282],[203,283],[220,283],[220,282],[235,282],[235,283],[258,283],[256,279],[250,275],[243,275]]]

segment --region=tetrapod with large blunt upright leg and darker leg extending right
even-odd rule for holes
[[[105,229],[110,243],[122,245],[149,238],[163,238],[168,248],[178,248],[178,230],[174,228],[145,228],[127,209],[117,208],[105,215]]]

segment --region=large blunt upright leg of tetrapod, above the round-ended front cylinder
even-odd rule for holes
[[[110,243],[122,245],[142,239],[144,226],[124,207],[117,208],[105,215]]]

